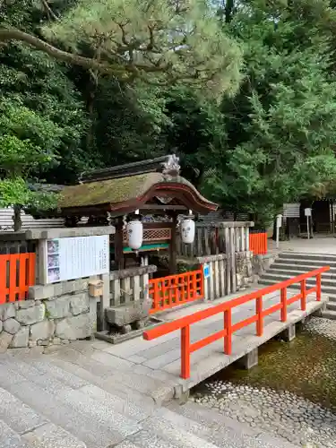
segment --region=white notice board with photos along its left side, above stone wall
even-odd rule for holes
[[[47,283],[109,271],[108,235],[48,239],[46,252]]]

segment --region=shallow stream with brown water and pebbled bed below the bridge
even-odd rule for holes
[[[258,366],[222,370],[191,400],[293,444],[336,448],[336,321],[313,318],[295,340],[271,340]]]

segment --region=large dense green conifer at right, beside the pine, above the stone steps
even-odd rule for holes
[[[283,202],[336,173],[331,36],[323,14],[311,13],[315,6],[253,4],[230,22],[244,42],[246,77],[223,101],[228,146],[207,191],[225,207],[257,214],[263,225]]]

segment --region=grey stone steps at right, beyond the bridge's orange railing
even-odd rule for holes
[[[322,266],[330,266],[331,268],[322,277],[322,292],[329,297],[327,309],[323,311],[323,317],[336,320],[336,254],[283,252],[271,264],[271,267],[263,273],[259,283],[274,285]],[[306,285],[314,287],[315,280],[307,280]],[[298,284],[293,285],[293,288],[299,289],[300,286]]]

